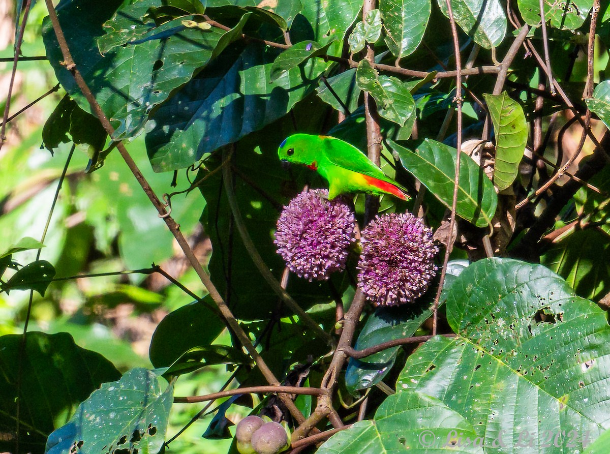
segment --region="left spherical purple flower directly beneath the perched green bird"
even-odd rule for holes
[[[345,201],[328,200],[328,190],[311,190],[284,207],[274,243],[290,271],[322,281],[345,268],[355,226],[354,213]]]

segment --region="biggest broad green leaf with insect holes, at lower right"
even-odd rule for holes
[[[458,336],[418,348],[397,389],[442,400],[472,423],[486,453],[582,452],[586,435],[608,427],[610,326],[559,276],[484,259],[454,281],[446,307]]]

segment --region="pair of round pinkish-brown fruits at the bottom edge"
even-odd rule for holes
[[[269,422],[259,416],[247,416],[237,424],[235,438],[241,454],[278,454],[290,447],[288,428],[267,420]]]

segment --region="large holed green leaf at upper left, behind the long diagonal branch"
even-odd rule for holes
[[[196,16],[176,18],[158,27],[145,23],[142,18],[149,8],[160,5],[160,0],[138,0],[121,5],[113,18],[104,24],[106,34],[98,38],[97,45],[93,41],[87,43],[87,48],[77,48],[79,42],[75,35],[81,33],[81,29],[71,24],[74,16],[87,14],[82,12],[87,6],[82,2],[66,2],[64,8],[58,7],[68,44],[76,48],[74,60],[102,110],[115,123],[115,139],[140,132],[154,106],[188,82],[195,71],[204,67],[232,40],[240,38],[249,16],[244,15],[229,32],[217,27],[203,31],[185,26],[183,21],[196,19]],[[95,20],[95,17],[90,19]],[[60,65],[63,58],[49,26],[45,38],[49,61],[63,82],[65,68]],[[89,60],[84,52],[101,52],[103,58]],[[68,93],[82,103],[82,95],[70,88],[66,87]]]

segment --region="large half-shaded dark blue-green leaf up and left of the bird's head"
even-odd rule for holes
[[[253,43],[240,50],[233,58],[217,59],[151,116],[156,126],[146,145],[156,171],[188,167],[284,116],[315,88],[328,66],[310,59],[271,84],[277,49]]]

